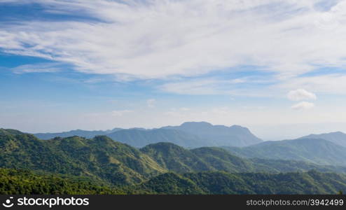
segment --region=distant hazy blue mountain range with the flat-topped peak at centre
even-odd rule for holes
[[[233,125],[212,125],[210,123],[190,122],[179,126],[167,126],[158,129],[145,130],[142,128],[119,129],[107,131],[83,131],[74,130],[61,133],[34,134],[39,139],[53,139],[54,137],[79,136],[92,138],[97,135],[106,135],[115,141],[119,141],[137,148],[158,142],[171,142],[186,148],[200,146],[249,146],[261,142],[246,127]]]

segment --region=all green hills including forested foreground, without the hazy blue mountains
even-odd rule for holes
[[[105,136],[40,140],[1,129],[0,160],[4,194],[334,194],[346,190],[345,167],[247,159],[223,148],[186,149],[167,142],[137,149]]]

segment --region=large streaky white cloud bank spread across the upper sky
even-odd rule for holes
[[[100,22],[2,25],[4,52],[113,73],[119,80],[195,76],[238,65],[265,66],[284,79],[345,65],[345,1],[324,12],[312,0],[28,2]]]

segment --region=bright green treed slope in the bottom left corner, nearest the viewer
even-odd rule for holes
[[[125,194],[92,179],[28,170],[0,169],[0,195],[102,195]]]

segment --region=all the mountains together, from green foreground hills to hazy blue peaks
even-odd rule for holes
[[[97,135],[41,140],[18,130],[0,129],[0,174],[5,183],[0,191],[14,194],[324,194],[346,190],[346,148],[340,145],[341,138],[335,140],[335,133],[331,133],[331,137],[323,134],[325,139],[320,139],[321,136],[284,141],[257,139],[260,143],[243,147],[219,146],[223,141],[214,141],[212,146],[203,146],[205,141],[212,144],[210,139],[202,139],[204,132],[200,129],[207,130],[207,127],[219,130],[220,136],[235,136],[237,131],[239,135],[251,137],[244,127],[207,123],[184,123],[178,128],[155,130],[106,131],[113,139]],[[74,132],[83,134],[81,130]],[[165,139],[167,136],[172,137]],[[184,147],[171,143],[172,139]],[[141,146],[136,148],[129,144]],[[59,183],[64,185],[56,187]]]

